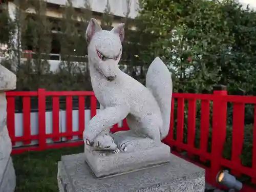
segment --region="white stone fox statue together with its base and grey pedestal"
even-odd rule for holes
[[[100,112],[83,132],[84,154],[58,163],[59,191],[204,191],[205,172],[170,153],[172,78],[159,57],[146,86],[118,68],[124,24],[102,30],[91,19],[86,37],[92,87]],[[110,133],[126,118],[129,131]]]

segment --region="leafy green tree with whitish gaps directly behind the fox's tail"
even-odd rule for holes
[[[200,93],[221,82],[221,71],[231,59],[228,53],[233,44],[223,5],[204,0],[140,1],[138,19],[143,25],[137,27],[144,34],[152,34],[141,57],[151,63],[160,56],[177,79],[176,90],[193,88]]]

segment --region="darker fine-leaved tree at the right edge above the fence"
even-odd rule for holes
[[[229,92],[236,93],[238,89],[248,94],[255,94],[256,62],[254,49],[256,46],[256,12],[248,7],[242,8],[238,1],[226,0],[222,11],[225,13],[233,44],[230,49],[232,60],[222,67],[223,81],[228,84]]]

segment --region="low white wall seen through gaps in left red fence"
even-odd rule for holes
[[[98,112],[99,110],[97,110]],[[38,113],[30,113],[30,126],[31,126],[31,135],[38,135]],[[91,111],[84,110],[84,127],[88,126],[90,121]],[[78,110],[73,110],[72,112],[72,127],[73,131],[78,131]],[[46,134],[53,133],[53,119],[52,119],[52,112],[46,112]],[[122,127],[122,122],[118,123],[118,127]],[[23,136],[23,114],[22,113],[15,113],[15,136],[20,137]],[[66,111],[59,111],[59,132],[65,133],[66,132]],[[77,136],[73,136],[73,140],[78,139]],[[59,141],[66,141],[65,137],[62,137]],[[52,139],[47,139],[47,143],[52,143]],[[37,144],[37,140],[33,140],[30,145]],[[23,142],[16,142],[14,147],[23,146]]]

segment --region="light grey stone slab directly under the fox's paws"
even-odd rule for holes
[[[99,178],[166,163],[170,160],[170,147],[161,143],[147,148],[138,148],[132,152],[121,152],[103,157],[100,157],[97,151],[85,149],[84,157],[94,175]]]

